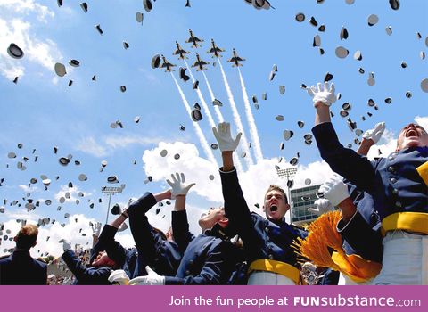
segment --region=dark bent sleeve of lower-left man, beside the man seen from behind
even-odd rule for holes
[[[62,259],[69,267],[71,273],[76,276],[78,281],[86,284],[106,284],[110,275],[108,267],[100,267],[98,269],[89,269],[82,264],[78,256],[73,250],[67,250],[62,254]]]

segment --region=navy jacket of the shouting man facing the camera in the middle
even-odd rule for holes
[[[283,219],[277,224],[251,213],[243,197],[236,170],[223,172],[220,169],[226,216],[235,225],[243,240],[248,263],[257,259],[273,259],[299,268],[297,254],[292,242],[308,233]]]

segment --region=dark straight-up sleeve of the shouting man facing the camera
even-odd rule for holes
[[[229,222],[236,227],[245,248],[250,250],[251,246],[255,246],[259,242],[259,237],[254,229],[250,209],[243,197],[236,170],[224,172],[220,168],[220,177],[226,216],[229,218]]]

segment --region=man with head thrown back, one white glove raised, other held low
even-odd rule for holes
[[[183,259],[175,276],[158,275],[150,267],[146,267],[147,276],[136,277],[130,284],[159,285],[159,284],[226,284],[235,269],[236,247],[229,241],[234,234],[225,209],[209,209],[207,214],[199,219],[202,234],[194,237],[189,232],[185,212],[185,196],[193,186],[185,185],[185,176],[177,173],[172,175],[172,181],[167,180],[172,187],[172,198],[176,199],[175,211],[172,214],[172,230],[180,250],[185,250]]]

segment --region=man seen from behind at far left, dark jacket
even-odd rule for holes
[[[0,259],[0,285],[45,285],[47,266],[33,259],[29,250],[37,244],[38,229],[34,225],[21,227],[14,237],[16,248],[12,255]]]

